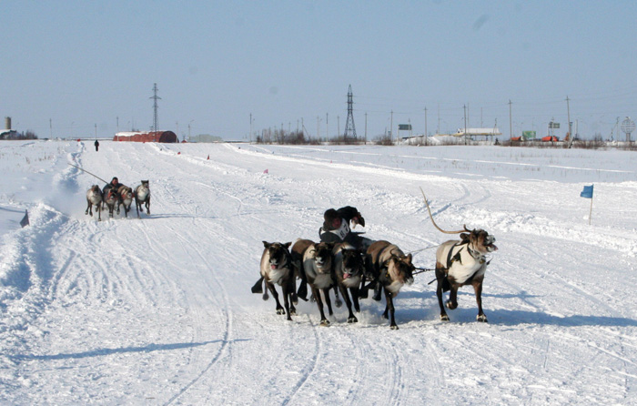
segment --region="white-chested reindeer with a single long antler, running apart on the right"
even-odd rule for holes
[[[459,231],[445,231],[438,227],[431,215],[425,192],[422,189],[420,191],[422,197],[425,198],[425,204],[434,227],[445,234],[460,234],[460,241],[445,241],[436,250],[436,280],[438,282],[436,295],[440,306],[440,320],[449,321],[449,316],[447,316],[442,304],[443,291],[450,290],[446,305],[450,310],[454,310],[458,308],[458,289],[465,285],[471,285],[476,293],[476,302],[478,303],[476,320],[488,322],[487,316],[482,311],[482,281],[490,262],[487,261],[486,255],[498,249],[493,244],[495,237],[481,228],[469,229],[466,225]]]

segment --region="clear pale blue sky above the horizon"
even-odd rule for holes
[[[610,137],[637,117],[634,1],[0,2],[0,116],[39,137],[153,123],[187,137],[263,128],[508,137],[571,121]],[[510,126],[510,105],[511,117]],[[328,126],[326,127],[326,121]],[[4,121],[3,121],[4,127]],[[617,138],[617,129],[614,130]],[[620,133],[621,137],[624,137]]]

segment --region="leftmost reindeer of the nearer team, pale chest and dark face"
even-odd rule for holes
[[[294,269],[292,268],[292,258],[289,254],[289,246],[291,242],[282,244],[280,242],[269,243],[263,241],[263,254],[261,255],[261,278],[258,279],[255,286],[252,287],[252,292],[260,293],[261,281],[264,281],[267,289],[272,293],[272,296],[277,302],[277,314],[288,314],[288,320],[292,320],[291,315],[297,314],[297,310],[294,307],[296,298],[294,296],[295,281],[294,281]],[[278,301],[278,293],[275,288],[275,284],[281,287],[283,292],[283,304]],[[268,300],[268,290],[263,294],[263,299]]]

